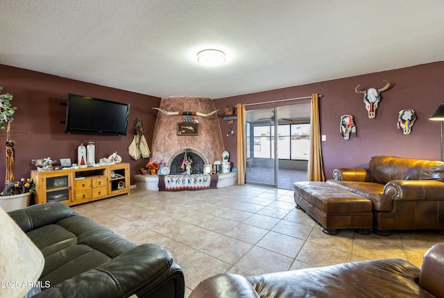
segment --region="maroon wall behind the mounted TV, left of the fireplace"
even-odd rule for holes
[[[148,159],[133,160],[128,155],[128,146],[133,140],[133,122],[140,117],[146,131],[146,140],[151,145],[153,128],[160,98],[126,92],[100,85],[60,78],[40,72],[0,65],[0,86],[3,92],[14,95],[13,106],[17,106],[15,120],[11,123],[11,138],[16,145],[16,179],[28,177],[31,159],[51,156],[52,159],[71,158],[77,160],[76,149],[80,142],[93,140],[96,145],[96,162],[117,151],[123,162],[130,163],[131,181],[138,174],[138,167],[144,167]],[[128,133],[124,137],[99,135],[65,134],[67,94],[81,94],[90,97],[120,101],[130,104]],[[6,142],[6,132],[0,132]],[[0,150],[0,181],[4,181],[5,150]],[[3,188],[0,185],[0,189]]]

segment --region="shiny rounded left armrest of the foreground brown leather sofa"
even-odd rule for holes
[[[238,274],[216,274],[194,288],[189,298],[259,298],[255,288]]]

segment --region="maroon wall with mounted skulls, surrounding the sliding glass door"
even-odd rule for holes
[[[215,99],[216,109],[221,111],[228,105],[291,99],[323,94],[319,100],[321,134],[327,136],[321,142],[323,165],[327,179],[332,178],[336,167],[366,167],[371,156],[391,155],[405,158],[441,158],[440,125],[430,121],[434,110],[444,101],[444,62],[429,63],[414,67],[352,76],[332,81],[300,85],[279,90],[244,94],[236,97]],[[382,99],[374,119],[369,119],[363,95],[356,94],[371,87],[382,88],[384,81],[391,87],[382,92]],[[288,103],[275,104],[285,106]],[[248,108],[264,108],[251,106]],[[405,108],[416,111],[416,122],[410,135],[398,131],[398,113]],[[341,115],[355,117],[357,137],[344,140],[339,132]],[[220,119],[225,150],[230,152],[230,161],[237,162],[237,140],[224,133],[226,122]]]

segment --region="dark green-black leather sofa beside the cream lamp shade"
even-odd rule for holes
[[[182,269],[162,247],[137,246],[62,203],[8,214],[44,256],[39,280],[51,286],[33,297],[184,297]]]

